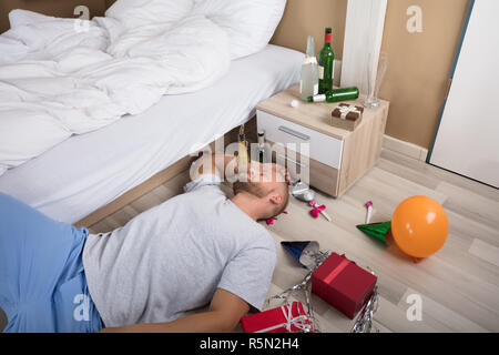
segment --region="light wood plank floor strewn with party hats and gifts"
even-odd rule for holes
[[[184,172],[151,193],[91,226],[106,232],[182,193]],[[396,245],[385,246],[356,229],[365,222],[364,203],[374,202],[371,222],[389,221],[406,197],[424,194],[442,204],[449,217],[449,236],[437,254],[415,264]],[[281,241],[315,240],[322,250],[345,253],[378,275],[379,332],[499,332],[499,191],[384,150],[381,160],[343,197],[318,193],[333,222],[313,219],[308,206],[292,199],[287,211],[267,226],[277,243],[278,264],[268,295],[302,281],[305,271],[281,247]],[[411,295],[421,300],[420,321],[409,321]],[[304,301],[299,295],[297,300]],[[312,298],[322,332],[349,332],[353,321]]]

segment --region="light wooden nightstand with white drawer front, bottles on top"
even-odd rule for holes
[[[348,103],[360,105],[361,99]],[[299,101],[298,108],[292,108],[293,100]],[[339,197],[378,161],[389,102],[381,100],[379,108],[366,109],[353,132],[329,124],[336,105],[303,102],[296,85],[261,102],[256,119],[268,142],[296,146],[296,152],[287,148],[274,158],[281,155],[288,169],[295,164],[298,173],[308,170],[312,186]]]

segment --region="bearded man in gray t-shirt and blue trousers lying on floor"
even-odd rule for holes
[[[220,183],[237,171],[235,161],[197,160],[184,194],[103,234],[0,194],[4,331],[234,329],[251,306],[262,308],[276,264],[274,241],[256,221],[278,215],[288,201],[286,172],[274,164],[238,174],[248,182],[235,182],[227,199]]]

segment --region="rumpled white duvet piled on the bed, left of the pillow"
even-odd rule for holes
[[[231,61],[226,31],[192,1],[119,0],[92,21],[14,10],[10,22],[0,36],[0,175],[163,94],[205,88]]]

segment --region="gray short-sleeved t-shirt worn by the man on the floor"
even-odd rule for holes
[[[105,234],[89,235],[83,266],[105,326],[161,323],[224,288],[262,310],[277,261],[266,229],[201,175],[177,195]]]

